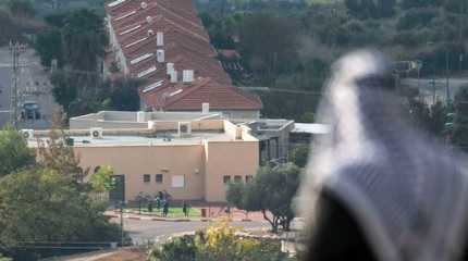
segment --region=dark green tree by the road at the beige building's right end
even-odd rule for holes
[[[295,216],[292,203],[299,175],[300,169],[291,163],[274,169],[266,166],[258,171],[251,183],[230,185],[226,199],[238,209],[261,211],[273,232],[280,226],[288,231]]]

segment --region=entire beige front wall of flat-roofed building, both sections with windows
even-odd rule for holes
[[[202,145],[75,147],[83,169],[110,165],[125,175],[125,200],[139,192],[167,190],[175,200],[224,202],[224,175],[255,175],[259,166],[258,141],[205,141]],[[144,174],[150,174],[144,183]],[[163,174],[163,184],[156,183]],[[172,176],[185,177],[184,188],[172,187]]]

